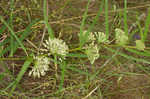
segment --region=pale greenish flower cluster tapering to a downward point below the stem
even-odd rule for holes
[[[86,45],[84,49],[88,59],[90,60],[90,63],[93,64],[95,60],[99,58],[99,48],[97,44],[92,42],[89,45]]]

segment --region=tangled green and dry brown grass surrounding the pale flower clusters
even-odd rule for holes
[[[2,1],[0,98],[122,99],[128,96],[127,99],[147,99],[150,90],[150,10],[147,9],[144,22],[139,20],[138,14],[144,12],[139,9],[139,2],[35,0],[27,3],[10,0],[7,4]],[[21,10],[17,4],[27,9]],[[147,3],[144,4],[146,8]],[[70,6],[76,9],[72,10]],[[114,6],[116,10],[112,9]],[[138,14],[133,15],[133,12]],[[18,22],[17,18],[23,21]],[[135,28],[128,33],[134,23]],[[116,28],[129,37],[126,45],[115,42]],[[93,41],[98,45],[100,55],[94,64],[90,64],[85,50],[91,43],[87,40],[92,32],[104,32],[106,39],[111,41]],[[1,41],[3,35],[7,37]],[[146,45],[144,50],[136,48],[134,35],[141,37]],[[36,49],[38,46],[44,49],[42,43],[48,37],[66,42],[69,46],[66,57],[48,55],[46,51]],[[35,64],[33,56],[41,54],[50,59],[49,71],[40,78],[29,77]]]

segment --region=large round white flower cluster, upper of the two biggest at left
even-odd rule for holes
[[[45,41],[45,43],[43,43],[43,45],[46,48],[46,51],[49,51],[49,54],[53,54],[53,55],[59,54],[59,55],[66,56],[69,50],[66,43],[63,42],[63,40],[57,38],[54,39],[49,38],[48,40]]]

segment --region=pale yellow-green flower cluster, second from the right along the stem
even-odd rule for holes
[[[115,29],[116,33],[116,43],[119,45],[125,45],[128,43],[128,36],[125,34],[125,32],[119,28]]]

